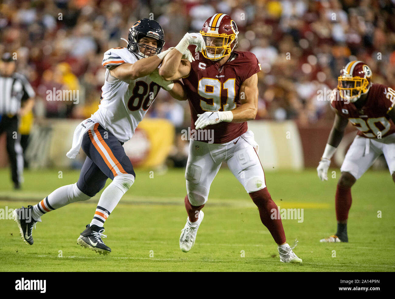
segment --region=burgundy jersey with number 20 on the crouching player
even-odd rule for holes
[[[357,127],[359,136],[377,138],[379,134],[384,137],[395,132],[395,124],[387,114],[395,105],[395,91],[391,87],[373,83],[361,108],[351,102],[346,104],[335,92],[336,89],[331,95],[332,107]]]

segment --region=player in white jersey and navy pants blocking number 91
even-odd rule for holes
[[[127,48],[117,47],[104,53],[102,65],[107,69],[99,109],[75,129],[73,145],[67,153],[69,158],[75,158],[82,147],[87,154],[79,180],[56,189],[34,206],[15,210],[15,221],[26,244],[33,244],[33,226],[41,222],[41,216],[71,202],[94,197],[110,178],[113,181],[103,191],[92,221],[77,244],[99,254],[111,252],[102,240],[107,237],[103,235],[103,226],[135,180],[132,163],[122,145],[132,138],[160,85],[175,98],[184,99],[181,83],[164,81],[158,76],[158,66],[171,51],[161,53],[164,44],[159,23],[142,19],[130,28]],[[30,214],[32,219],[24,217]]]

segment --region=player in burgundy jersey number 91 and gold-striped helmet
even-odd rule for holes
[[[185,34],[160,67],[166,80],[182,78],[189,100],[191,132],[213,132],[214,138],[192,138],[186,166],[184,199],[188,218],[180,237],[180,248],[188,252],[195,243],[203,220],[201,211],[222,162],[258,206],[262,223],[278,244],[280,261],[301,263],[286,243],[278,208],[267,191],[265,174],[258,158],[254,134],[246,121],[255,119],[258,106],[258,75],[261,66],[250,52],[234,51],[237,25],[229,15],[216,13],[204,23],[200,34]],[[190,46],[195,42],[196,48]],[[195,51],[195,60],[182,60],[185,51]],[[205,130],[202,130],[202,129]],[[196,134],[199,136],[199,134]],[[195,139],[195,140],[192,140]],[[273,211],[276,211],[273,213]],[[275,217],[271,215],[276,214]],[[274,218],[274,219],[273,219]]]

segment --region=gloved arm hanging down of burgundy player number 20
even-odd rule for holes
[[[337,112],[335,114],[335,121],[331,132],[329,133],[328,141],[325,146],[324,154],[322,155],[321,161],[317,167],[318,177],[322,181],[328,180],[328,169],[331,165],[331,158],[342,141],[344,135],[344,129],[346,129],[348,119],[340,116]]]

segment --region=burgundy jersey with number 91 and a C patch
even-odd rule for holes
[[[195,56],[195,46],[188,49]],[[236,54],[235,58],[221,67],[217,62],[206,59],[199,53],[199,59],[191,63],[189,76],[182,79],[191,109],[192,130],[195,129],[198,114],[206,111],[229,111],[240,106],[240,86],[246,79],[260,72],[260,63],[254,54],[242,51],[232,53]],[[214,130],[214,143],[226,143],[244,134],[247,131],[247,122],[223,121],[207,126],[204,130],[206,129]]]

